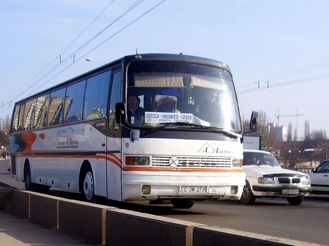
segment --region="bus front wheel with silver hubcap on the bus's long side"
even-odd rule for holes
[[[85,167],[80,184],[81,198],[85,202],[96,203],[94,175],[92,169],[88,164]]]

